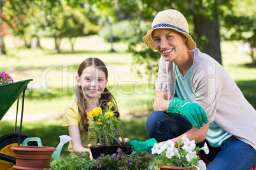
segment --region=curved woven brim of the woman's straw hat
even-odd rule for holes
[[[169,28],[169,27],[157,27],[155,29],[172,29],[172,30],[175,30],[176,32],[180,32],[181,34],[186,36],[187,39],[188,39],[188,41],[186,42],[187,48],[190,49],[190,50],[196,48],[196,42],[194,42],[192,37],[189,34],[185,33],[185,32],[181,32],[178,29]],[[148,46],[149,48],[157,50],[157,48],[155,48],[155,42],[153,41],[153,37],[152,37],[152,32],[155,29],[148,30],[148,33],[146,33],[146,36],[143,37],[143,41],[145,42],[146,46]]]

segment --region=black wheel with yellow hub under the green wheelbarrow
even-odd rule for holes
[[[10,157],[14,157],[13,150],[10,148],[13,146],[18,146],[18,133],[10,133],[0,137],[0,154],[8,155]],[[20,136],[20,145],[25,140],[25,138],[29,138],[27,134],[21,134]],[[36,145],[36,143],[28,143],[28,145]],[[0,159],[0,167],[1,169],[13,169],[13,162],[8,162],[6,160]]]

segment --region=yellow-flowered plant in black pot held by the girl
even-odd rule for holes
[[[131,146],[124,142],[123,122],[117,117],[117,110],[111,110],[113,103],[110,101],[108,107],[102,110],[94,108],[89,115],[93,117],[89,126],[87,138],[96,138],[96,143],[90,148],[94,159],[100,154],[114,154],[117,148],[121,148],[125,154],[131,154]],[[122,142],[117,138],[121,138]]]

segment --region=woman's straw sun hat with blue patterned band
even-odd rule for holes
[[[155,29],[173,29],[180,32],[188,38],[186,42],[188,49],[195,49],[196,42],[193,41],[192,37],[188,34],[188,23],[186,18],[176,10],[164,10],[160,11],[152,22],[152,29],[148,31],[146,36],[143,37],[145,44],[151,49],[155,48],[153,41],[152,32]]]

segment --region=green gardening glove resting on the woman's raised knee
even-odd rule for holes
[[[180,98],[173,98],[171,100],[167,113],[187,117],[188,121],[198,129],[204,125],[203,123],[208,122],[207,115],[201,106],[194,102],[181,100]]]

